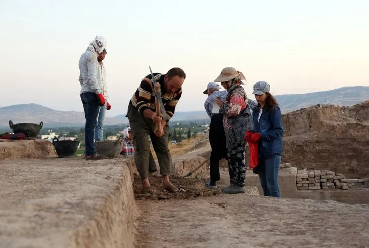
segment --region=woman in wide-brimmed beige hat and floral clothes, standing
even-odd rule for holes
[[[252,129],[252,116],[248,105],[248,98],[241,80],[246,78],[242,72],[233,67],[224,68],[214,80],[228,91],[225,102],[220,99],[217,103],[219,113],[223,114],[223,126],[226,136],[229,161],[230,185],[223,189],[224,193],[237,194],[245,192],[245,146],[246,130]]]

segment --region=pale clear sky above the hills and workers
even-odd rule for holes
[[[144,76],[186,72],[176,110],[203,110],[224,67],[274,95],[369,86],[369,1],[0,0],[0,107],[83,111],[78,61],[107,40],[107,116],[124,114]],[[5,56],[4,56],[5,55]]]

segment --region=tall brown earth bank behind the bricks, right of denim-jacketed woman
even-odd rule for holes
[[[369,175],[369,101],[350,107],[318,104],[282,120],[284,162],[348,177]]]

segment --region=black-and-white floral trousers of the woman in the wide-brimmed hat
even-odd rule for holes
[[[239,187],[245,186],[245,148],[246,142],[242,141],[231,149],[227,149],[230,183]]]

